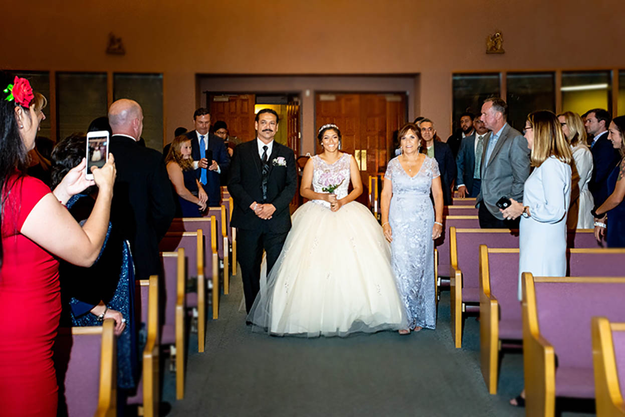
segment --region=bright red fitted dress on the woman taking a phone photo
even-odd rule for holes
[[[52,346],[61,315],[59,263],[19,233],[47,193],[44,183],[26,176],[12,184],[2,209],[0,414],[5,417],[56,416]]]

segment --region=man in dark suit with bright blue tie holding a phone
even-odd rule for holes
[[[227,175],[230,157],[224,141],[209,133],[211,128],[211,112],[199,108],[193,113],[195,129],[186,134],[191,139],[191,158],[196,169],[197,179],[202,183],[208,194],[208,206],[215,207],[221,203],[220,175]],[[206,157],[211,156],[211,161]]]

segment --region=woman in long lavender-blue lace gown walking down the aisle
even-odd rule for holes
[[[436,159],[419,153],[425,149],[419,128],[408,123],[397,138],[402,153],[391,159],[384,176],[382,229],[391,242],[392,268],[407,311],[408,325],[399,333],[407,334],[436,327],[433,239],[441,236],[443,203]]]

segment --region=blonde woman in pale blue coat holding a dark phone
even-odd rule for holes
[[[510,199],[501,210],[504,218],[519,224],[519,300],[521,274],[534,276],[566,275],[566,213],[571,201],[571,148],[560,122],[551,111],[530,113],[523,134],[534,171],[523,187],[523,203]],[[523,204],[527,204],[524,206]],[[525,390],[510,404],[523,406]]]

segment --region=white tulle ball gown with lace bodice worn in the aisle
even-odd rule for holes
[[[314,191],[322,193],[328,178],[342,178],[334,194],[346,196],[349,154],[334,164],[319,156],[312,159]],[[298,208],[247,319],[254,330],[277,336],[347,336],[406,328],[389,244],[369,210],[356,201],[336,212],[320,200]]]

